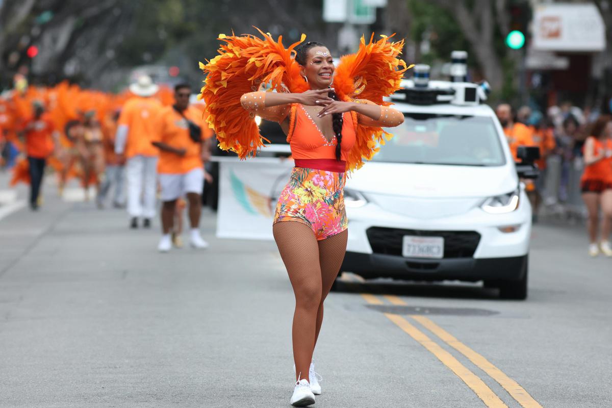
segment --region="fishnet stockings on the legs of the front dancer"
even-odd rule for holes
[[[346,231],[317,242],[306,224],[283,221],[275,223],[272,232],[296,297],[292,329],[296,379],[310,382],[308,370],[323,322],[323,300],[344,258]]]

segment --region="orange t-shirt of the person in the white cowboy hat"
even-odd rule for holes
[[[125,102],[121,109],[119,125],[129,127],[125,146],[126,157],[159,155],[159,150],[151,142],[157,132],[155,124],[161,109],[162,104],[155,98],[133,97]]]

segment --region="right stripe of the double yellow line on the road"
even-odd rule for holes
[[[408,303],[404,302],[397,296],[384,295],[384,297],[394,305],[408,306]],[[431,321],[431,319],[419,315],[412,315],[410,317],[422,324],[431,333],[438,336],[442,341],[444,341],[444,343],[448,344],[450,347],[453,347],[453,349],[465,355],[465,357],[468,357],[468,359],[474,363],[474,365],[482,369],[482,371],[487,373],[492,379],[496,380],[499,385],[504,388],[504,390],[508,391],[508,393],[512,395],[512,398],[516,399],[517,402],[523,406],[523,408],[542,408],[542,406],[535,401],[535,399],[533,399],[532,396],[529,395],[529,393],[525,391],[524,388],[521,387],[515,380],[504,374],[499,368],[489,362],[487,358],[458,341],[457,338],[452,336],[443,328],[439,327],[439,325],[435,324],[433,321]]]

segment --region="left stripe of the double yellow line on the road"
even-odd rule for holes
[[[382,305],[384,302],[371,294],[361,294],[367,303],[371,305]],[[447,366],[457,377],[459,377],[476,395],[478,398],[485,403],[489,408],[508,408],[504,401],[502,401],[496,393],[483,382],[480,377],[472,373],[466,366],[461,364],[457,358],[453,357],[452,354],[442,349],[438,343],[431,340],[425,333],[421,332],[418,328],[414,327],[403,317],[398,314],[384,313],[384,315],[390,321],[394,322],[395,325],[401,328],[404,332],[408,333],[417,343],[425,347],[427,351],[435,355],[442,364]]]

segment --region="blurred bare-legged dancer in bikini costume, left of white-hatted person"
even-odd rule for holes
[[[104,175],[104,147],[100,122],[95,119],[95,111],[83,113],[83,137],[80,140],[81,169],[83,169],[83,188],[85,201],[89,201],[89,184],[95,183],[96,198],[100,194],[100,182]],[[96,199],[100,206],[100,201]]]

